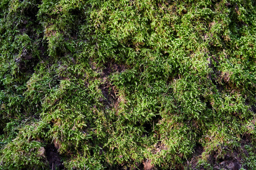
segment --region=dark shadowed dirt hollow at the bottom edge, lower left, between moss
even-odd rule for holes
[[[63,161],[61,156],[53,144],[47,145],[46,150],[46,159],[49,163],[49,169],[64,169]]]

